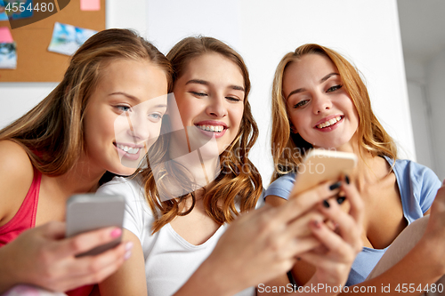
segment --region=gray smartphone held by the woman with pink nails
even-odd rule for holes
[[[122,228],[124,212],[125,199],[123,196],[94,194],[71,196],[67,202],[66,237],[110,226]],[[117,237],[108,244],[102,244],[88,252],[77,254],[76,257],[97,255],[115,247],[120,241],[121,237]]]

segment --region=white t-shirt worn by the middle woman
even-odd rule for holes
[[[151,235],[154,217],[145,200],[144,188],[137,179],[115,177],[102,185],[97,193],[125,196],[124,228],[133,232],[141,241],[149,296],[174,294],[206,260],[228,227],[227,224],[223,224],[206,243],[199,245],[187,242],[170,224],[166,224]],[[260,197],[256,207],[261,205],[263,198]],[[237,295],[255,295],[255,287]]]

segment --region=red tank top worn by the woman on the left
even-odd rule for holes
[[[40,181],[42,173],[34,170],[34,178],[29,187],[19,211],[6,224],[0,227],[0,247],[12,242],[23,231],[36,226],[36,213],[38,204],[38,193],[40,191]],[[79,287],[66,292],[69,296],[86,296],[93,290],[93,284]]]

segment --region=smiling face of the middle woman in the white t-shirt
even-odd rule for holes
[[[174,83],[174,97],[181,116],[171,116],[173,128],[183,126],[189,138],[198,133],[188,140],[191,146],[198,138],[214,137],[217,155],[223,153],[238,134],[244,112],[244,78],[239,67],[214,52],[190,60]]]

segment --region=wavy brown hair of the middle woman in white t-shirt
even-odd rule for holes
[[[182,76],[190,60],[207,53],[218,53],[233,61],[241,71],[244,78],[244,89],[246,91],[244,113],[239,126],[239,132],[235,140],[231,142],[230,147],[220,155],[221,172],[210,185],[206,186],[203,196],[206,213],[216,223],[223,224],[224,222],[231,222],[239,215],[239,211],[235,206],[236,203],[239,203],[240,212],[247,212],[255,208],[255,204],[262,194],[263,185],[261,176],[256,170],[255,165],[252,164],[247,157],[250,148],[252,148],[258,137],[258,127],[247,100],[250,91],[250,79],[247,66],[239,53],[231,49],[229,45],[212,37],[205,36],[182,39],[179,43],[175,44],[167,54],[167,58],[174,68],[174,82]],[[163,123],[163,125],[164,124],[167,123]],[[158,153],[158,159],[165,158],[166,156],[166,152],[160,152],[162,150],[159,150],[164,149],[164,151],[166,151],[168,147],[168,137],[164,138],[164,140],[158,140],[157,143],[150,148],[153,153]],[[158,146],[158,148],[155,148],[155,146]],[[164,156],[161,155],[162,153],[164,153]],[[150,159],[152,158],[154,157],[150,157]],[[153,167],[153,165],[150,166]],[[178,170],[176,167],[175,169],[174,172],[172,168],[169,167],[163,167],[158,170],[158,173],[162,175],[162,177],[159,178],[161,181],[158,182],[155,182],[150,167],[141,172],[142,184],[145,184],[147,200],[156,218],[152,228],[153,233],[173,220],[174,217],[187,214],[193,209],[195,203],[194,193],[180,198],[171,198],[166,201],[163,201],[159,195],[159,191],[164,191],[163,188],[167,186],[166,182],[162,180],[169,178],[170,180],[177,180],[182,186],[184,186],[184,181],[188,182],[185,186],[191,189],[193,188],[194,184],[190,182],[190,179],[187,180],[183,173],[179,173],[185,172],[186,168]],[[193,190],[187,192],[190,191]],[[183,204],[186,198],[192,198],[193,204],[187,212],[183,212]]]

